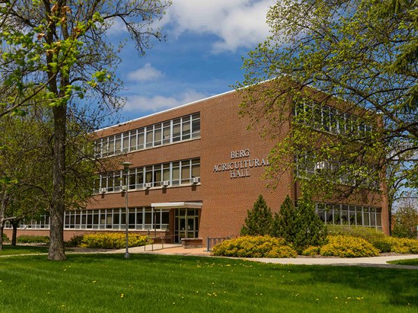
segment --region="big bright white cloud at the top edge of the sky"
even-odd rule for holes
[[[219,37],[214,52],[252,47],[268,36],[265,17],[272,0],[176,0],[158,26],[174,35],[190,31]]]

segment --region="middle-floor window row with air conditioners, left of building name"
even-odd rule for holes
[[[129,190],[147,187],[180,186],[195,184],[199,182],[199,178],[200,159],[189,159],[130,168],[127,182],[124,170],[101,174],[95,180],[94,192],[121,191],[121,188],[126,185]]]

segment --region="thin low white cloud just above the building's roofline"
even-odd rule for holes
[[[127,102],[123,107],[123,111],[138,113],[158,112],[189,102],[194,102],[205,97],[207,97],[207,95],[199,93],[196,90],[186,90],[176,97],[164,97],[161,95],[155,97],[132,96],[128,97]]]

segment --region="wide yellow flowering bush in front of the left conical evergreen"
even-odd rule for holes
[[[218,243],[213,255],[226,257],[296,257],[297,252],[286,246],[282,238],[271,236],[240,236]]]

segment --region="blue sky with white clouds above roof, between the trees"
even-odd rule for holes
[[[127,97],[121,122],[231,90],[242,80],[242,56],[268,35],[272,0],[173,0],[157,23],[167,36],[140,57],[132,42],[117,75]],[[112,27],[114,39],[126,36]]]

